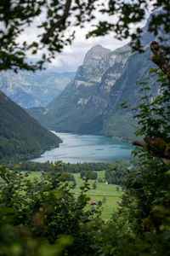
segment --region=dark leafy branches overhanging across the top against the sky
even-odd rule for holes
[[[167,0],[2,0],[0,70],[42,69],[45,61],[50,61],[56,52],[71,44],[76,27],[83,28],[87,23],[94,24],[87,38],[114,32],[114,36],[120,40],[130,38],[133,49],[142,51],[144,48],[140,42],[142,30],[139,22],[153,10],[148,31],[159,38],[167,55],[169,47],[165,34],[170,32],[169,5]],[[97,20],[98,24],[96,15],[101,17]],[[137,26],[132,28],[134,24]],[[32,34],[31,42],[26,42],[22,40],[23,33],[31,26],[36,28],[35,34]],[[35,63],[29,62],[26,60],[28,52],[31,55],[41,53],[41,59]]]

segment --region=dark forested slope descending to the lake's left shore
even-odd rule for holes
[[[58,147],[59,142],[59,137],[0,91],[0,160],[32,158],[47,148]]]

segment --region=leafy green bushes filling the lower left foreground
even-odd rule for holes
[[[98,210],[84,211],[88,182],[77,199],[59,172],[41,180],[0,169],[0,255],[94,255],[93,233],[103,221]],[[86,245],[86,246],[84,246]]]

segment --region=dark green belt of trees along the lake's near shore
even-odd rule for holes
[[[123,186],[127,178],[127,169],[136,166],[138,159],[132,158],[130,162],[125,160],[116,160],[112,163],[77,163],[77,164],[65,164],[62,163],[59,166],[59,173],[67,173],[67,180],[75,181],[71,173],[80,173],[82,179],[89,178],[92,180],[98,180],[99,182],[104,182],[98,178],[97,172],[105,171],[105,182],[110,184],[117,184]],[[57,162],[56,162],[57,163]],[[8,163],[9,170],[17,170],[18,172],[43,172],[50,173],[54,172],[55,165],[53,162],[37,163],[31,161],[20,162],[20,164],[15,165],[14,163]]]

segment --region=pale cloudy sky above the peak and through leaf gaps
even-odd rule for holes
[[[105,15],[101,16],[99,12],[96,11],[96,21],[105,20]],[[24,33],[22,33],[19,38],[20,42],[26,40],[30,42],[31,40],[37,40],[37,25],[41,23],[42,18],[37,18],[36,22],[30,28],[27,28]],[[108,17],[107,19],[112,19]],[[140,26],[144,26],[145,21],[141,23]],[[75,27],[76,38],[71,45],[65,46],[61,53],[56,53],[54,60],[47,64],[47,69],[53,69],[53,71],[62,72],[76,72],[77,67],[82,65],[82,61],[89,49],[94,47],[96,44],[100,44],[105,48],[114,50],[127,44],[129,40],[119,41],[114,38],[113,33],[106,35],[105,37],[98,38],[88,38],[86,39],[86,34],[90,31],[91,24],[87,24],[85,28]],[[41,55],[39,55],[40,57]],[[28,56],[32,60],[32,55]],[[38,55],[35,55],[35,61],[38,60]]]

